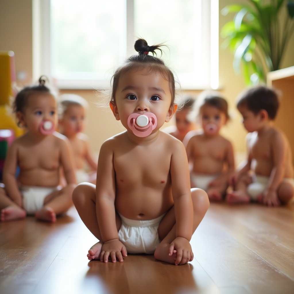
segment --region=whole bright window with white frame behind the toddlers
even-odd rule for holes
[[[147,5],[148,4],[148,5]],[[33,75],[59,88],[109,86],[142,37],[164,43],[183,89],[218,88],[218,0],[33,0]]]

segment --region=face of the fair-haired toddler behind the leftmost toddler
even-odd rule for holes
[[[74,136],[82,132],[85,126],[85,109],[81,105],[70,105],[59,120],[59,124],[66,136]]]

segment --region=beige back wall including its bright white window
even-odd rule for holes
[[[138,37],[149,45],[164,42],[168,48],[163,47],[162,58],[178,77],[179,97],[197,97],[205,89],[214,89],[228,100],[231,121],[222,134],[232,141],[238,163],[245,152],[246,132],[235,99],[246,84],[242,74],[234,71],[234,56],[222,46],[220,35],[234,13],[220,11],[248,2],[0,0],[0,50],[14,52],[18,87],[45,74],[60,94],[75,93],[89,102],[85,133],[98,154],[103,141],[124,128],[108,108],[97,106],[107,98],[94,90],[108,91],[113,70],[136,53],[133,45]],[[293,48],[292,35],[280,68],[294,65]]]

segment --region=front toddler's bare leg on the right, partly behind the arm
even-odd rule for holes
[[[205,191],[193,188],[191,189],[191,196],[193,202],[193,233],[198,225],[201,223],[206,211],[209,208],[209,199]],[[176,252],[169,256],[168,251],[171,242],[176,238],[176,217],[174,208],[164,216],[158,228],[159,238],[162,240],[154,252],[154,257],[158,260],[175,263]]]

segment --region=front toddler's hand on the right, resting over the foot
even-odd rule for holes
[[[173,242],[171,242],[168,255],[173,255],[174,250],[176,250],[177,253],[175,265],[188,263],[194,258],[191,244],[186,238],[177,237],[175,240],[173,240]]]

